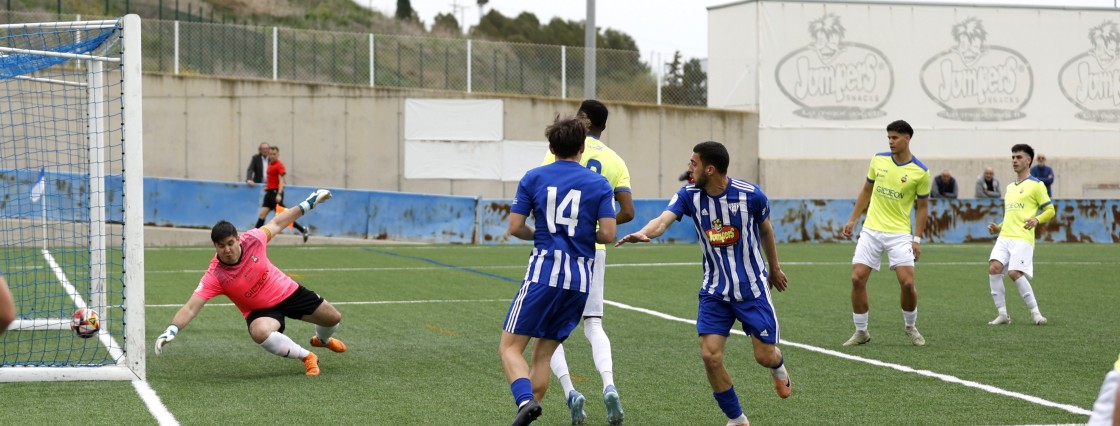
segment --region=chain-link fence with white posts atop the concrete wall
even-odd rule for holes
[[[57,19],[53,13],[7,17]],[[146,20],[142,43],[148,72],[569,99],[587,93],[582,47],[171,20]],[[687,92],[674,86],[680,78],[663,84],[661,70],[644,63],[638,52],[597,49],[596,98],[707,103],[704,96],[678,94]]]

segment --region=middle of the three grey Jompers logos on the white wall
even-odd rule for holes
[[[939,117],[958,121],[1020,119],[1034,91],[1027,58],[1007,47],[988,45],[978,18],[953,26],[955,46],[922,66],[922,89],[944,108]]]

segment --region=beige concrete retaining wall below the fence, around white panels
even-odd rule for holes
[[[144,175],[241,182],[256,146],[281,148],[292,185],[513,197],[516,182],[403,178],[408,98],[485,94],[215,77],[144,76]],[[580,100],[501,98],[504,136],[544,141],[558,113]],[[757,182],[758,118],[744,111],[607,103],[604,140],[626,159],[635,197],[680,188],[692,146],[716,140],[731,152],[731,174]]]

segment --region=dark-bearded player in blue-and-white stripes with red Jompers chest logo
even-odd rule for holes
[[[738,320],[743,331],[750,335],[755,360],[771,369],[778,397],[790,396],[793,382],[777,348],[777,315],[769,294],[771,288],[785,290],[787,281],[777,260],[766,194],[749,182],[727,177],[730,156],[724,145],[701,142],[692,152],[689,173],[694,184],[678,191],[660,216],[615,246],[648,242],[665,233],[673,221],[692,219],[703,253],[697,314],[700,354],[712,396],[727,415],[727,424],[746,425],[747,416],[724,367],[724,348]]]

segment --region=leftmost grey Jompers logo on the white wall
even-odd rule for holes
[[[844,41],[840,18],[809,22],[813,43],[791,52],[774,71],[782,93],[801,106],[795,114],[819,120],[864,120],[886,115],[894,71],[879,49]]]

